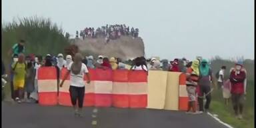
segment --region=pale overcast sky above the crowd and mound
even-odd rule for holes
[[[65,31],[139,28],[147,57],[254,58],[253,0],[2,0],[2,21],[49,17]]]

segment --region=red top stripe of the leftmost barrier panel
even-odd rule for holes
[[[38,69],[38,79],[56,79],[57,69],[55,67],[40,67]]]

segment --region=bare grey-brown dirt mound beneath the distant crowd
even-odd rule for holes
[[[144,43],[141,37],[133,39],[133,37],[123,36],[119,39],[105,42],[105,38],[75,41],[75,45],[79,47],[81,53],[86,55],[104,55],[107,57],[120,57],[129,59],[145,55]]]

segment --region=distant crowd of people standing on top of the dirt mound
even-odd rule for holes
[[[106,25],[94,29],[94,27],[86,27],[84,30],[76,31],[76,39],[85,39],[86,37],[97,38],[105,37],[106,41],[109,39],[118,39],[121,35],[131,35],[136,38],[139,36],[139,29],[129,27],[126,25]]]

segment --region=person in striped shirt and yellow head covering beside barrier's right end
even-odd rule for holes
[[[196,111],[196,102],[195,102],[197,100],[196,90],[197,90],[198,80],[199,80],[199,61],[198,60],[193,61],[191,67],[187,69],[186,76],[187,76],[186,89],[189,97],[186,113],[200,114],[201,112]],[[191,109],[192,109],[192,112],[191,112]]]

